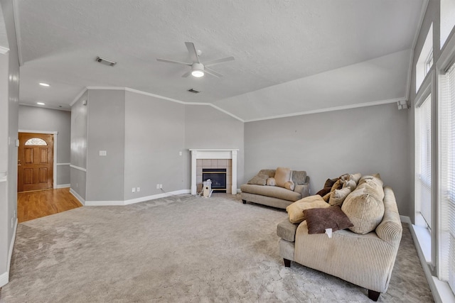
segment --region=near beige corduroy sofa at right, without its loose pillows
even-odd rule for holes
[[[352,199],[355,199],[356,190],[358,189],[355,188],[350,193],[353,194]],[[371,193],[368,192],[365,196],[364,189],[360,194],[368,198]],[[348,199],[349,195],[345,204],[348,203]],[[380,293],[387,291],[402,236],[400,215],[395,195],[390,187],[383,188],[382,202],[384,206],[382,219],[380,218],[379,224],[368,233],[358,233],[358,229],[365,226],[359,218],[350,216],[348,218],[353,227],[335,231],[331,238],[327,233],[309,234],[308,220],[300,224],[291,224],[287,219],[278,224],[279,253],[284,258],[284,265],[290,267],[291,261],[294,261],[334,275],[365,287],[368,289],[368,297],[377,301]],[[362,203],[365,204],[364,201]],[[348,212],[348,206],[343,209],[344,206],[344,204],[341,206],[341,210]]]

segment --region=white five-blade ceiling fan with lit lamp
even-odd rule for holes
[[[231,57],[224,57],[224,58],[217,59],[217,60],[211,60],[208,62],[200,62],[199,56],[202,52],[200,50],[196,50],[196,47],[194,46],[194,43],[192,43],[192,42],[186,42],[185,45],[186,45],[186,48],[188,49],[188,53],[190,54],[191,60],[193,62],[187,63],[187,62],[180,62],[180,61],[161,59],[161,58],[157,58],[156,60],[160,61],[160,62],[176,63],[176,64],[181,64],[181,65],[191,66],[191,70],[189,72],[186,72],[185,74],[183,74],[182,77],[188,77],[189,75],[193,75],[193,77],[197,77],[197,78],[203,77],[205,72],[212,76],[215,76],[215,77],[223,77],[223,75],[221,75],[219,72],[215,72],[215,70],[212,70],[209,67],[223,63],[223,62],[234,60],[234,57],[231,56]]]

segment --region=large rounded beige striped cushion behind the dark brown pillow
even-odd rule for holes
[[[346,197],[341,206],[343,212],[354,224],[349,228],[354,233],[365,234],[374,231],[384,216],[384,203],[364,189],[355,189]]]

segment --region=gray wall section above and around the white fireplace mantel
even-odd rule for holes
[[[244,123],[211,106],[187,105],[185,114],[186,188],[191,187],[189,148],[238,148],[237,187],[244,178]]]

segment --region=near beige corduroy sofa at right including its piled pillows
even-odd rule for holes
[[[279,252],[286,267],[294,261],[326,272],[365,287],[377,301],[390,282],[402,224],[392,189],[382,187],[379,175],[362,178],[343,194],[347,185],[324,195],[335,197],[332,204],[320,195],[291,204],[289,219],[277,226]],[[356,178],[350,175],[338,184],[352,185],[349,179]],[[344,198],[338,199],[340,195]],[[346,218],[333,221],[333,214]]]

